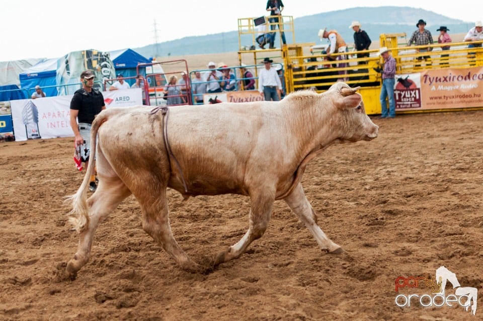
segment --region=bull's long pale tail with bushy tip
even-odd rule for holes
[[[97,132],[101,124],[107,120],[107,113],[101,112],[94,119],[91,127],[91,154],[89,158],[92,160],[89,162],[89,166],[86,170],[86,175],[82,181],[81,186],[77,192],[73,195],[67,196],[66,202],[72,203],[72,210],[69,212],[69,222],[73,225],[73,229],[77,232],[82,232],[87,225],[89,225],[89,208],[87,205],[87,187],[90,183],[90,178],[93,175],[96,167],[96,147],[97,147]],[[94,147],[93,147],[94,146]]]

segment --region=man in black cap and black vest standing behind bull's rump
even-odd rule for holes
[[[96,75],[93,70],[85,70],[81,73],[82,88],[75,91],[70,100],[70,127],[74,132],[75,148],[81,152],[81,161],[89,166],[91,151],[91,124],[94,118],[102,110],[106,109],[102,93],[93,88]],[[78,121],[78,123],[77,123]],[[95,148],[95,146],[94,146]],[[96,191],[96,176],[91,177],[91,192]]]

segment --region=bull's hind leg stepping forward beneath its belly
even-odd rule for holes
[[[144,197],[137,197],[141,204],[142,228],[163,247],[182,269],[189,272],[199,272],[201,270],[199,265],[188,257],[173,236],[166,200],[166,187],[163,191],[156,188],[152,193]]]

